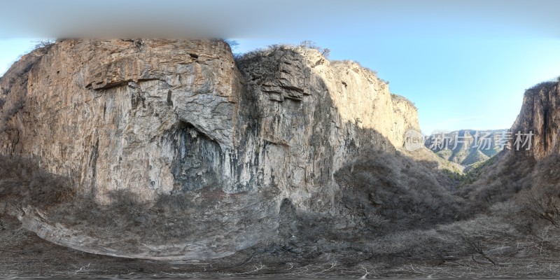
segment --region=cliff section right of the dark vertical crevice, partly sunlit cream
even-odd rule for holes
[[[273,155],[260,161],[269,165],[265,180],[274,178],[303,209],[335,204],[332,174],[363,148],[402,146],[393,120],[408,117],[395,116],[387,85],[355,62],[279,47],[246,55],[239,68],[253,99],[244,102],[253,104],[247,107],[258,134],[253,150]]]

